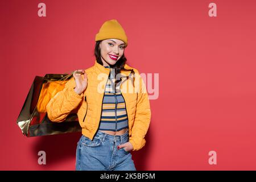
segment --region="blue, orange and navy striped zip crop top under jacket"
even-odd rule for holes
[[[109,66],[104,66],[110,68]],[[106,84],[99,130],[119,131],[128,128],[125,100],[121,94],[120,85],[114,89],[115,71],[110,68],[108,82]]]

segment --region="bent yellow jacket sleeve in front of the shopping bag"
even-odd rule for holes
[[[65,121],[68,114],[80,104],[83,93],[77,94],[74,90],[76,87],[75,78],[72,77],[66,84],[65,88],[51,98],[46,106],[48,118],[52,122]]]

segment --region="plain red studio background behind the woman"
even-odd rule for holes
[[[210,2],[217,17],[208,15]],[[16,119],[36,75],[91,67],[96,33],[117,19],[129,39],[127,64],[159,73],[146,146],[132,152],[137,169],[255,170],[255,4],[1,1],[0,169],[75,169],[80,133],[26,138]],[[211,150],[217,165],[208,163]]]

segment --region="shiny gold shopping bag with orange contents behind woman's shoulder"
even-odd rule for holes
[[[77,109],[71,111],[63,122],[52,122],[47,117],[46,106],[56,93],[64,89],[72,78],[70,74],[46,74],[36,76],[16,121],[23,135],[37,137],[64,133],[81,132]]]

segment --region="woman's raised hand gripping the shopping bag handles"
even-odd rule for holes
[[[82,73],[76,73],[76,71],[79,71]],[[77,94],[80,95],[82,92],[84,92],[84,90],[87,87],[87,75],[85,71],[82,69],[79,69],[76,71],[73,73],[73,77],[75,78],[75,81],[76,81],[76,87],[74,90]],[[84,78],[82,78],[82,75],[84,76]]]

